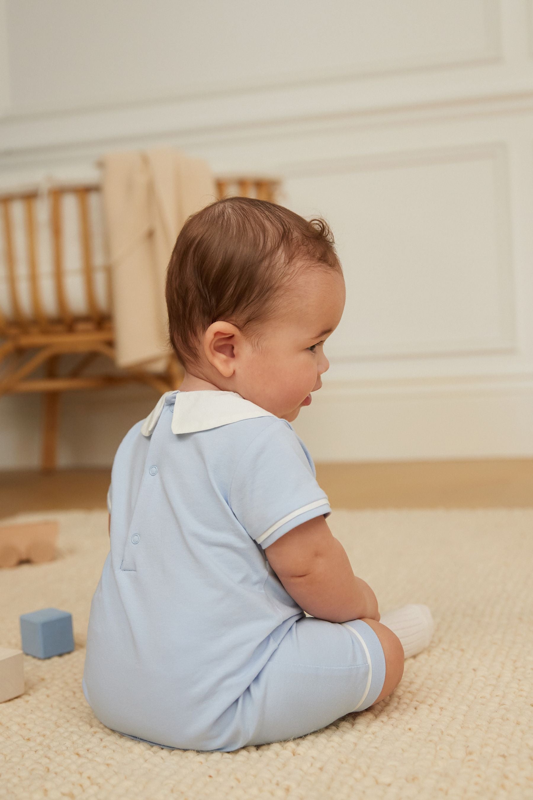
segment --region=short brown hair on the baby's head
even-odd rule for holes
[[[166,276],[169,340],[177,357],[196,362],[201,336],[217,320],[246,332],[265,321],[297,269],[312,266],[342,272],[323,219],[308,222],[252,198],[219,200],[193,214],[177,237]]]

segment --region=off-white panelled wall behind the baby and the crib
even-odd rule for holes
[[[318,461],[533,455],[531,0],[0,0],[0,186],[181,147],[283,178],[347,282]],[[64,396],[60,463],[108,464],[157,398]],[[0,467],[39,399],[0,400]]]

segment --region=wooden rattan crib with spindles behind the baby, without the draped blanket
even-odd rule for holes
[[[278,186],[272,178],[217,179],[219,198],[239,195],[276,202]],[[182,370],[173,355],[161,374],[114,365],[99,184],[0,194],[0,215],[0,396],[43,393],[42,469],[54,470],[63,391],[139,382],[162,394],[177,389]]]

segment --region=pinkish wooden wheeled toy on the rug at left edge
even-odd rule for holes
[[[0,566],[21,561],[38,564],[53,561],[58,539],[58,522],[18,522],[0,526]]]

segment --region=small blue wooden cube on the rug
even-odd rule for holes
[[[35,658],[51,658],[74,650],[72,615],[58,608],[43,608],[20,618],[22,650]]]

